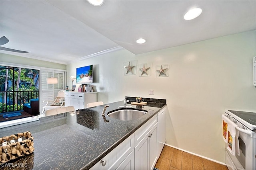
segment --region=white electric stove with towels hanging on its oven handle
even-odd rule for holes
[[[240,154],[232,155],[226,149],[226,164],[229,170],[256,170],[256,113],[225,110],[236,127]]]

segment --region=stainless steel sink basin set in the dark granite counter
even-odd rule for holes
[[[119,119],[122,121],[129,121],[129,120],[136,120],[143,115],[148,113],[146,110],[141,109],[134,109],[134,108],[122,108],[122,109],[116,109],[112,110],[107,113],[109,117]]]

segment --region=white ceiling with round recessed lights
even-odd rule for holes
[[[202,14],[184,20],[195,7]],[[2,47],[29,53],[0,52],[62,64],[122,48],[147,53],[256,30],[255,9],[255,0],[0,0],[0,37],[10,40]]]

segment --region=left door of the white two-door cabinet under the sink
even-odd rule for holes
[[[135,168],[136,170],[148,170],[149,166],[149,149],[148,149],[148,137],[147,133],[140,143],[135,147]]]

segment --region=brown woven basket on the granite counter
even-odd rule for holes
[[[33,137],[29,131],[0,138],[0,162],[6,163],[34,151]]]

